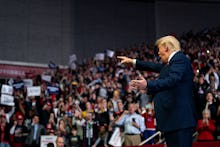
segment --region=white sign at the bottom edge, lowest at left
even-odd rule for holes
[[[49,143],[53,144],[54,147],[56,147],[56,139],[57,139],[57,136],[42,135],[40,139],[40,147],[47,147]]]

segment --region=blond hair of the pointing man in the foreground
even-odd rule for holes
[[[165,36],[158,39],[155,43],[157,47],[163,45],[172,51],[180,50],[180,42],[174,36]]]

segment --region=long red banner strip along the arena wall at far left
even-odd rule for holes
[[[0,78],[33,78],[38,74],[42,74],[46,67],[22,66],[22,65],[9,65],[0,64]]]

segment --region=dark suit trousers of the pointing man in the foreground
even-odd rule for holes
[[[167,147],[192,147],[192,135],[192,127],[164,133]]]

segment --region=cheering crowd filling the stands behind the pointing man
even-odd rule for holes
[[[195,74],[197,141],[220,140],[220,29],[177,38]],[[147,89],[129,90],[129,81],[140,73],[120,64],[117,55],[159,62],[155,46],[142,43],[118,49],[114,57],[103,61],[88,59],[76,69],[49,69],[45,74],[52,76],[51,82],[36,75],[33,83],[41,87],[40,96],[28,97],[26,87],[14,87],[15,106],[0,106],[1,144],[34,147],[40,145],[41,135],[56,135],[64,138],[65,146],[107,147],[114,130],[120,128],[123,143],[138,145],[154,134],[153,96]],[[141,74],[149,80],[158,77],[153,72]],[[22,80],[18,77],[14,83]],[[50,93],[48,86],[59,91]],[[155,139],[147,143],[154,144]]]

